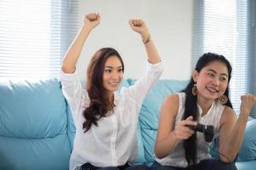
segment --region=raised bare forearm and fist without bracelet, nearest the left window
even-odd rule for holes
[[[76,68],[79,55],[81,54],[84,42],[96,26],[99,25],[101,20],[100,14],[86,14],[84,15],[84,23],[80,28],[79,33],[73,40],[70,47],[67,49],[65,58],[62,61],[61,70],[65,73],[73,73]]]

